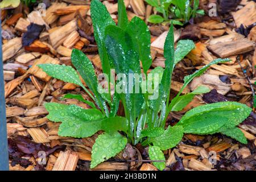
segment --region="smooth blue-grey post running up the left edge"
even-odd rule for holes
[[[0,10],[1,14],[1,10]],[[0,15],[1,16],[1,15]],[[0,17],[1,24],[1,17]],[[0,33],[2,26],[0,27]],[[7,127],[5,113],[5,84],[3,81],[2,35],[0,34],[0,171],[9,170]]]

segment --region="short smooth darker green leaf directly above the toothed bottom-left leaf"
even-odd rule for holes
[[[128,130],[128,122],[124,117],[112,117],[106,118],[102,121],[102,130],[108,134],[113,134],[114,131],[125,131]]]

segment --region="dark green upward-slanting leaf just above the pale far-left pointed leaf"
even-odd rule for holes
[[[101,110],[105,110],[108,113],[108,107],[106,106],[105,101],[102,99],[100,93],[98,93],[98,80],[94,72],[92,62],[88,59],[85,54],[78,50],[73,49],[71,54],[72,64],[79,71],[81,77],[84,79],[86,85],[92,90],[95,101]]]

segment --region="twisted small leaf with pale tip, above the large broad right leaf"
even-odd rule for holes
[[[176,100],[171,102],[171,111],[183,110],[185,106],[189,104],[197,94],[203,94],[210,92],[208,86],[200,85],[193,92],[185,94],[184,96],[177,97]]]

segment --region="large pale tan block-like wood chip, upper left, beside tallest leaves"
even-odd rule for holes
[[[65,24],[65,26],[57,28],[57,30],[51,32],[49,34],[49,39],[51,41],[52,47],[59,47],[65,41],[67,36],[75,30],[77,30],[76,19],[72,20],[68,24]]]

